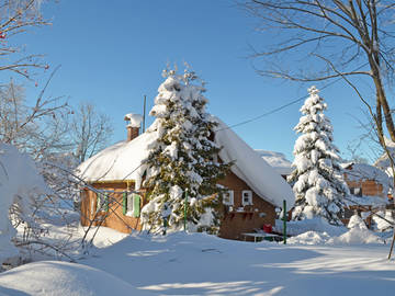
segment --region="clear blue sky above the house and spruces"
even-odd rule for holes
[[[113,121],[112,141],[126,137],[123,116],[151,107],[168,62],[184,61],[207,81],[208,111],[229,125],[259,116],[307,93],[309,84],[258,76],[249,44],[266,46],[256,20],[228,0],[61,0],[44,7],[53,25],[23,35],[29,53],[45,54],[61,65],[47,94],[66,95],[71,104],[93,102]],[[45,77],[37,78],[43,83]],[[34,82],[27,82],[34,95]],[[319,88],[325,83],[317,83]],[[362,104],[343,82],[325,89],[327,115],[342,156],[362,133]],[[293,160],[293,127],[303,102],[235,128],[252,148],[280,151]],[[153,118],[148,118],[150,123]]]

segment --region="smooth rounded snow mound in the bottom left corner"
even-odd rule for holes
[[[153,295],[87,265],[43,261],[0,274],[0,295]]]

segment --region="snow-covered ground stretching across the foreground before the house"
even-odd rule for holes
[[[0,274],[0,295],[390,295],[395,288],[390,246],[363,238],[308,246],[297,242],[312,238],[300,236],[284,246],[184,232],[122,239],[103,230],[97,246],[106,248],[79,264],[36,262]]]

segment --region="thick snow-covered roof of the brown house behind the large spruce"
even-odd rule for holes
[[[221,159],[225,162],[235,160],[232,171],[263,200],[276,206],[282,206],[285,200],[291,208],[295,197],[285,180],[230,128],[218,122],[221,130],[215,133],[215,143],[223,147]],[[120,141],[102,150],[82,162],[77,174],[87,182],[134,180],[138,190],[147,169],[142,163],[148,157],[149,145],[157,138],[154,129],[150,127],[132,141]]]

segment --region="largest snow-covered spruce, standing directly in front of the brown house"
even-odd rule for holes
[[[183,75],[165,70],[163,77],[150,111],[156,121],[148,133],[158,138],[146,160],[149,203],[142,209],[143,227],[154,232],[163,227],[180,230],[185,216],[190,230],[204,227],[215,232],[223,191],[217,181],[230,163],[216,161],[221,147],[211,136],[217,123],[205,111],[204,82],[198,83],[189,70]]]

